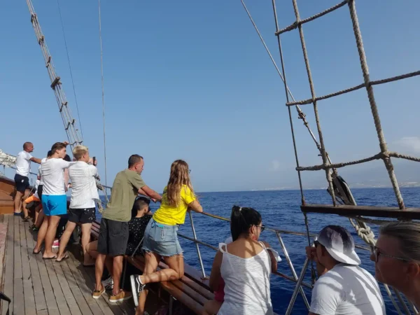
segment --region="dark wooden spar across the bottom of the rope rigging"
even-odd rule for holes
[[[398,218],[405,220],[420,220],[420,208],[401,210],[397,207],[370,206],[332,206],[330,204],[305,204],[300,206],[304,213],[338,214],[339,216],[376,216],[381,218]]]

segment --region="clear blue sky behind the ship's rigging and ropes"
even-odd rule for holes
[[[144,156],[142,174],[162,191],[171,163],[188,162],[197,191],[297,188],[283,83],[239,0],[102,0],[106,107],[106,174],[111,186],[130,155]],[[277,1],[279,25],[294,22],[291,0]],[[300,0],[307,18],[338,1]],[[101,63],[97,1],[59,0],[78,99],[56,0],[33,0],[56,72],[84,144],[104,181]],[[246,1],[280,66],[271,1]],[[372,80],[420,69],[420,1],[356,1]],[[0,149],[16,155],[25,141],[43,158],[66,140],[26,2],[0,1]],[[344,6],[303,26],[316,95],[363,82]],[[288,86],[310,97],[297,30],[281,36]],[[390,150],[420,155],[420,78],[375,86]],[[302,106],[318,138],[311,105]],[[379,153],[365,90],[318,102],[325,147],[333,162]],[[321,164],[302,121],[292,111],[300,165]],[[78,120],[78,119],[77,119]],[[36,169],[36,165],[32,165]],[[395,161],[400,182],[419,181],[419,165]],[[339,170],[349,183],[384,185],[381,161]],[[400,172],[401,177],[398,177]],[[304,172],[304,188],[325,187],[324,172]]]

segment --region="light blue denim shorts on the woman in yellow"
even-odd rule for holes
[[[178,241],[178,225],[161,224],[151,219],[144,232],[143,251],[170,257],[183,253]]]

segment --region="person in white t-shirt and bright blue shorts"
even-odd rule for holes
[[[38,239],[34,254],[41,252],[41,245],[45,239],[43,259],[55,259],[52,243],[59,223],[60,216],[67,214],[67,196],[64,187],[64,169],[76,162],[66,162],[66,142],[57,142],[51,148],[51,156],[41,164],[43,181],[42,208],[46,216],[38,232]]]

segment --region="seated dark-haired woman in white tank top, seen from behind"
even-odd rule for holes
[[[209,281],[215,291],[221,279],[225,281],[224,302],[217,314],[274,314],[269,276],[276,272],[277,260],[276,252],[269,244],[258,241],[264,228],[258,211],[232,208],[230,231],[233,241],[228,245],[219,244]]]

